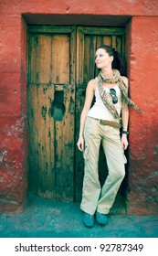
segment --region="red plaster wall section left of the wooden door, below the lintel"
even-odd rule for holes
[[[2,10],[2,9],[1,9]],[[21,211],[26,199],[26,25],[0,16],[0,211]]]

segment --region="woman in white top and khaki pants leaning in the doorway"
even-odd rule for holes
[[[100,69],[99,76],[90,80],[86,99],[80,116],[79,150],[83,152],[85,173],[82,200],[83,223],[87,227],[107,223],[109,213],[121,181],[125,175],[126,158],[124,150],[128,146],[128,105],[140,111],[128,98],[128,79],[120,75],[118,53],[110,46],[100,46],[96,51],[95,63]],[[118,69],[113,69],[113,67]],[[93,96],[96,102],[90,109]],[[122,134],[120,128],[122,124]],[[109,174],[100,187],[98,161],[100,143],[106,155]]]

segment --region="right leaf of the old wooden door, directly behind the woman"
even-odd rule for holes
[[[98,75],[94,57],[96,48],[106,44],[121,53],[124,59],[124,28],[78,27],[77,28],[77,84],[76,84],[76,141],[79,137],[79,117],[83,108],[85,91],[89,80]],[[108,169],[100,147],[100,183],[103,184]],[[76,151],[76,200],[81,199],[84,162],[82,153]]]

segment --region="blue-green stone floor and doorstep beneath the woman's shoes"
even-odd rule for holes
[[[79,203],[28,195],[22,213],[0,215],[1,238],[158,238],[158,216],[110,215],[105,227],[82,224]]]

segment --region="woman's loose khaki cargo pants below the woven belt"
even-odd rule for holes
[[[121,146],[120,131],[87,117],[84,138],[85,170],[80,208],[92,215],[96,210],[108,214],[125,175],[126,157]],[[103,145],[109,171],[102,188],[98,172],[100,143]]]

